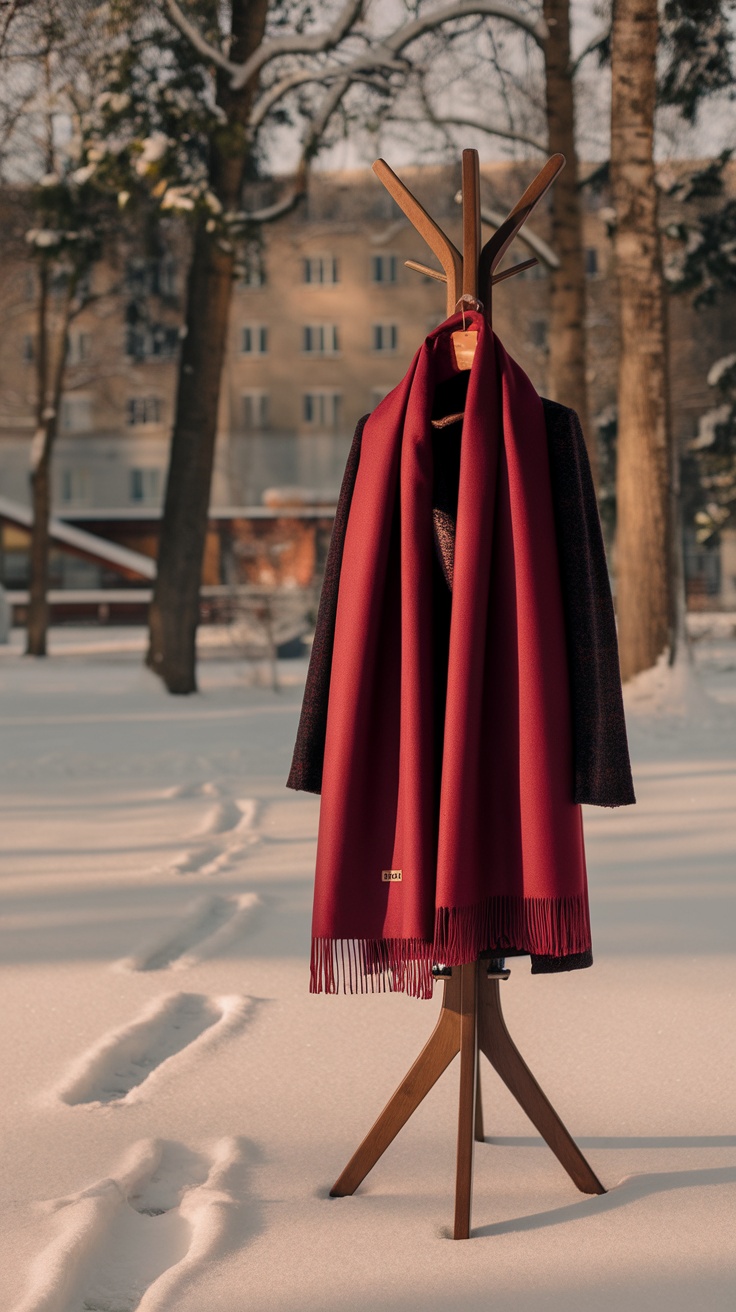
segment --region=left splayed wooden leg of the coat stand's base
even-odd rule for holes
[[[413,1067],[401,1080],[395,1094],[386,1103],[378,1120],[356,1149],[342,1174],[329,1190],[332,1198],[354,1194],[388,1144],[426,1097],[450,1061],[460,1051],[460,1013],[463,988],[460,970],[455,968],[445,981],[445,997],[434,1030],[421,1050]],[[475,1036],[475,1025],[474,1025]],[[474,1038],[475,1042],[475,1038]]]

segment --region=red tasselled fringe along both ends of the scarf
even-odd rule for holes
[[[434,942],[422,938],[312,938],[310,993],[432,997],[432,966],[463,966],[481,953],[571,956],[590,949],[588,897],[493,896],[440,907]]]

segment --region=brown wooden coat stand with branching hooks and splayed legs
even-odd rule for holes
[[[492,286],[535,264],[526,260],[501,274],[496,273],[505,251],[564,167],[564,156],[554,155],[526,189],[497,232],[480,245],[480,169],[478,151],[463,151],[463,253],[396,177],[384,160],[373,165],[386,189],[404,211],[417,232],[434,252],[442,273],[407,260],[411,269],[446,282],[447,315],[460,306],[484,310],[491,321]],[[483,306],[479,302],[479,290]],[[467,338],[470,333],[458,333]],[[472,346],[463,344],[466,352]],[[460,359],[455,344],[458,361]],[[470,362],[467,363],[470,367]],[[483,1107],[480,1101],[479,1052],[483,1052],[501,1080],[523,1109],[531,1123],[550,1145],[571,1179],[584,1194],[605,1194],[601,1181],[590,1169],[580,1148],[565,1130],[531,1071],[518,1052],[504,1022],[499,985],[509,971],[499,962],[480,960],[467,966],[436,966],[433,975],[445,983],[445,996],[437,1025],[401,1084],[390,1098],[362,1144],[353,1153],[345,1170],[331,1189],[333,1198],[354,1194],[369,1170],[386,1152],[420,1102],[460,1055],[460,1089],[458,1115],[458,1156],[455,1173],[454,1239],[470,1239],[472,1200],[472,1157],[475,1141],[483,1141]]]

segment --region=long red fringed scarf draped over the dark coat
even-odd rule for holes
[[[432,993],[432,963],[590,947],[542,401],[481,315],[462,429],[436,770],[433,332],[366,422],[340,573],[312,992]]]

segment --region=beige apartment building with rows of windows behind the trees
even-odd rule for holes
[[[505,211],[529,164],[483,167],[484,203]],[[403,169],[426,209],[460,244],[459,167]],[[269,199],[276,184],[262,185]],[[585,193],[589,387],[593,422],[614,415],[617,328],[606,198]],[[548,239],[543,206],[534,231]],[[488,230],[491,231],[491,230]],[[172,231],[157,257],[96,270],[104,291],[70,335],[68,390],[54,457],[58,514],[151,516],[160,506],[173,417],[186,237]],[[517,241],[514,264],[529,251]],[[445,318],[445,289],[405,268],[432,262],[411,224],[367,169],[317,173],[310,198],[264,230],[236,283],[222,386],[214,508],[248,506],[269,488],[335,497],[358,417],[399,382],[428,331]],[[712,404],[707,370],[733,349],[729,306],[697,312],[670,303],[672,405],[682,449]],[[25,258],[0,272],[0,492],[28,502],[34,429],[34,286]],[[542,265],[501,283],[493,324],[544,392],[548,279]],[[562,398],[564,399],[564,398]]]

